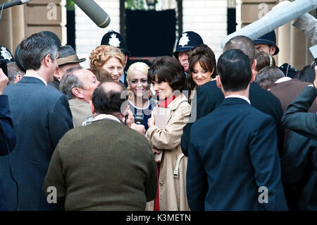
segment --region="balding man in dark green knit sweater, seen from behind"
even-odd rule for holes
[[[143,135],[125,126],[123,90],[101,83],[90,104],[97,116],[58,142],[44,180],[48,202],[66,210],[144,210],[156,197],[154,154]]]

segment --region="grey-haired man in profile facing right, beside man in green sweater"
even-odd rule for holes
[[[68,98],[70,111],[73,114],[74,126],[82,126],[87,117],[92,115],[89,102],[99,81],[92,71],[81,66],[69,68],[59,85],[59,90]]]

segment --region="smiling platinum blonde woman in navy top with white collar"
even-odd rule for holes
[[[149,66],[147,63],[133,63],[127,73],[129,107],[135,116],[135,122],[144,125],[147,130],[147,120],[151,117],[151,111],[156,107],[156,102],[149,99],[150,84],[147,80]]]

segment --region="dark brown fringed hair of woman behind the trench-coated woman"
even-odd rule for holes
[[[194,47],[189,51],[189,73],[187,77],[187,89],[193,90],[196,83],[192,79],[192,72],[194,71],[194,65],[199,62],[201,68],[204,68],[206,71],[213,71],[211,78],[216,78],[217,69],[216,69],[216,57],[210,47],[206,44],[199,44],[197,47]],[[189,93],[190,94],[190,93]]]

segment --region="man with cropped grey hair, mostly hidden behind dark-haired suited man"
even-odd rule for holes
[[[244,36],[232,37],[232,39],[225,44],[223,51],[225,52],[229,49],[240,49],[244,52],[244,54],[247,54],[251,64],[251,71],[254,75],[256,74],[254,71],[256,66],[256,60],[254,59],[255,50],[251,39]],[[223,92],[221,92],[221,90],[217,87],[216,80],[210,81],[197,88],[196,96],[192,102],[191,117],[189,119],[189,123],[187,123],[183,129],[182,135],[181,147],[182,152],[186,156],[188,155],[187,148],[190,139],[189,132],[195,118],[199,119],[211,113],[211,111],[215,110],[221,102],[223,102],[223,99]],[[263,90],[254,82],[250,84],[249,99],[252,107],[259,109],[265,114],[271,115],[275,119],[278,133],[278,149],[282,151],[284,128],[280,122],[283,115],[280,101],[273,94],[267,90]],[[212,135],[212,133],[210,135]]]

